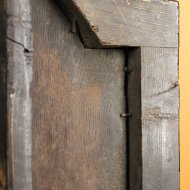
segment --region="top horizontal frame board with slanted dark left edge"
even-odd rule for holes
[[[178,3],[55,0],[76,17],[87,47],[178,47]]]

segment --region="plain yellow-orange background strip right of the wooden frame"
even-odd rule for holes
[[[181,190],[190,190],[190,1],[180,3],[180,161]]]

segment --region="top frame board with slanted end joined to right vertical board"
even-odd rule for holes
[[[129,189],[178,190],[178,3],[56,2],[87,48],[136,47],[128,53]]]

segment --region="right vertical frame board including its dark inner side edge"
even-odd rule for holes
[[[178,190],[178,49],[134,49],[128,64],[130,187]]]

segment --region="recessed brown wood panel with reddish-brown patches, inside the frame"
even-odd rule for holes
[[[126,189],[123,51],[84,49],[52,1],[32,7],[33,189]]]

